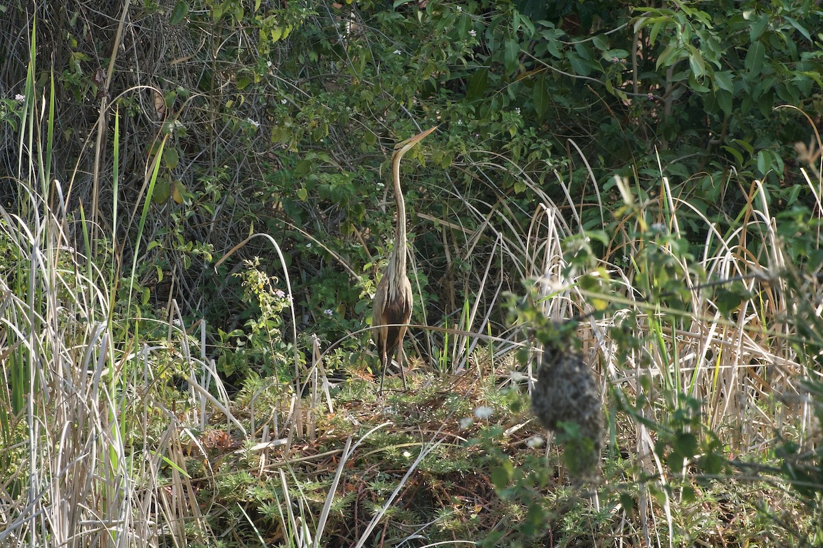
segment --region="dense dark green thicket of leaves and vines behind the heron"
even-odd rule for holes
[[[95,237],[127,256],[133,224],[112,235],[108,220],[114,117],[121,207],[137,210],[152,151],[166,140],[142,235],[151,245],[130,280],[151,301],[143,313],[174,298],[226,333],[243,325],[230,276],[240,256],[216,270],[213,260],[261,231],[280,242],[299,282],[300,330],[310,325],[331,342],[368,315],[364,292],[388,255],[388,151],[434,124],[425,166],[405,175],[419,323],[456,320],[481,285],[467,273],[486,271],[480,251],[528,233],[536,192],[559,202],[568,194],[579,209],[565,211],[571,228],[607,234],[616,221],[600,205],[618,197],[610,178],[653,195],[660,166],[672,194],[721,233],[755,177],[775,209],[811,205],[793,145],[813,136],[794,108],[815,123],[821,108],[816,8],[226,1],[131,2],[123,12],[118,2],[12,3],[0,92],[8,101],[23,93],[36,22],[38,82],[53,75],[59,107],[54,175],[72,210],[95,205]],[[15,127],[2,131],[14,173]],[[13,185],[4,187],[9,200]],[[698,226],[683,229],[702,242]],[[619,242],[605,245],[608,259]],[[242,255],[275,269],[266,242]],[[501,265],[490,275],[519,291],[524,269]]]

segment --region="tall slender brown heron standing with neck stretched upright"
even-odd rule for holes
[[[400,160],[412,147],[423,138],[435,131],[435,127],[427,129],[394,145],[392,154],[392,180],[394,182],[394,198],[398,202],[398,223],[394,229],[394,249],[388,257],[388,266],[383,272],[383,278],[377,284],[374,292],[374,315],[371,325],[372,337],[377,344],[377,355],[382,368],[380,374],[380,394],[383,394],[383,381],[386,368],[392,359],[394,351],[398,350],[398,366],[406,387],[406,375],[400,363],[403,337],[412,317],[412,283],[406,274],[406,204],[403,201],[403,192],[400,188]]]

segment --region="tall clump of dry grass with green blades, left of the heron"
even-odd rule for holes
[[[0,206],[0,543],[156,546],[165,535],[206,535],[181,438],[207,423],[207,409],[233,418],[225,390],[221,403],[189,376],[186,412],[166,405],[162,364],[199,371],[205,385],[214,364],[202,345],[193,355],[198,342],[179,316],[158,343],[140,334],[142,319],[122,314],[123,257],[91,251],[89,223],[68,213],[52,177],[54,91],[42,112],[34,64],[20,146],[35,146],[10,177],[16,202]]]

